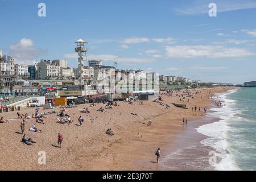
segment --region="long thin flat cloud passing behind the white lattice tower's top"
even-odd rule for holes
[[[78,56],[76,53],[68,53],[63,55],[63,57],[77,60]],[[118,60],[118,62],[123,63],[148,63],[155,61],[154,58],[138,58],[138,57],[121,57],[121,56],[115,56],[115,55],[89,55],[90,60],[103,60],[103,61],[114,61]]]

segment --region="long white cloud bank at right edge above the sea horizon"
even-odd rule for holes
[[[193,57],[245,57],[253,56],[254,52],[242,48],[229,48],[224,46],[166,46],[168,57],[193,58]]]

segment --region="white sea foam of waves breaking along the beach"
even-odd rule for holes
[[[236,109],[236,101],[228,100],[226,96],[231,93],[236,92],[236,90],[230,90],[229,92],[216,94],[217,100],[225,100],[226,106],[217,107],[210,109],[214,111],[209,113],[209,117],[218,117],[221,120],[218,122],[213,122],[207,125],[200,126],[197,128],[197,132],[206,135],[207,139],[201,141],[205,146],[210,146],[214,148],[216,155],[221,158],[221,161],[213,164],[212,166],[216,170],[241,170],[236,162],[233,160],[232,154],[229,152],[228,142],[226,140],[227,133],[230,130],[228,121],[234,119],[234,115],[238,113]]]

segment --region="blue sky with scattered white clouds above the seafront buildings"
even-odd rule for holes
[[[46,17],[38,4],[46,4]],[[217,17],[208,15],[209,3]],[[66,59],[89,42],[89,59],[193,80],[256,80],[256,0],[0,0],[0,49],[18,63]]]

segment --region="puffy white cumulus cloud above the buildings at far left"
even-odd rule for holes
[[[20,39],[18,43],[11,45],[10,49],[10,55],[22,64],[33,64],[33,59],[46,53],[43,49],[36,48],[31,39],[26,38]]]

